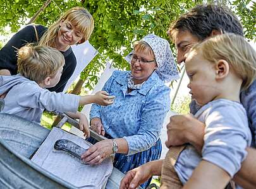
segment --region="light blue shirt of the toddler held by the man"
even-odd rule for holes
[[[191,145],[181,152],[174,166],[181,182],[188,181],[202,160],[224,169],[232,178],[252,142],[245,108],[235,101],[219,99],[202,106],[195,117],[205,123],[204,147],[202,156]]]

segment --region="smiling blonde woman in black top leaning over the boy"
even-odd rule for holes
[[[76,67],[76,58],[70,46],[88,40],[93,30],[94,19],[87,9],[82,7],[69,9],[49,28],[28,25],[18,31],[0,50],[0,75],[17,74],[16,49],[27,43],[47,45],[64,55],[65,65],[61,79],[56,86],[48,88],[49,91],[62,92]]]

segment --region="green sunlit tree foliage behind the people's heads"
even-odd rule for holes
[[[0,33],[6,26],[16,32],[20,26],[28,23],[40,9],[45,0],[0,0]],[[169,40],[166,30],[171,21],[196,4],[205,3],[203,0],[55,0],[39,15],[35,23],[49,26],[63,12],[73,6],[83,6],[92,13],[95,20],[95,30],[90,43],[99,49],[102,56],[113,61],[118,69],[130,69],[123,56],[131,51],[131,43],[142,38],[147,33],[155,33]],[[210,1],[209,1],[210,2]],[[216,2],[216,1],[214,1]],[[256,4],[248,0],[219,1],[233,8],[240,16],[245,28],[245,35],[255,40]],[[56,6],[56,4],[58,6]],[[174,47],[172,47],[175,54]],[[82,72],[81,78],[85,87],[92,89],[98,81],[99,72],[104,69],[106,62],[97,57]]]

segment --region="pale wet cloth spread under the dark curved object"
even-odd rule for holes
[[[80,159],[54,149],[54,143],[59,139],[71,140],[84,149],[90,147],[86,140],[54,127],[32,161],[78,188],[104,188],[113,170],[111,159],[105,159],[100,165],[83,164]]]

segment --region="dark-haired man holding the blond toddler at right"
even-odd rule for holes
[[[235,33],[243,36],[243,28],[230,9],[224,6],[205,4],[196,6],[188,13],[181,15],[178,20],[172,23],[168,33],[176,45],[178,64],[181,64],[185,60],[186,52],[195,43],[222,33]],[[190,112],[195,113],[198,108],[200,107],[195,104],[195,101],[192,101]],[[199,122],[192,115],[175,115],[171,117],[167,127],[167,147],[190,143],[196,147],[198,152],[201,151],[204,145],[204,123]],[[256,150],[248,148],[247,151],[248,156],[243,162],[240,171],[235,175],[234,180],[243,188],[255,188]],[[159,160],[149,162],[129,171],[121,181],[120,188],[136,188],[144,181],[147,181],[150,176],[161,175],[161,167],[162,160]],[[198,181],[200,179],[195,182]],[[187,185],[186,187],[191,188]]]

